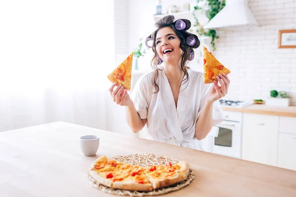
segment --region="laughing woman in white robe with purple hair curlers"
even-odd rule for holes
[[[121,85],[110,87],[111,97],[126,106],[126,120],[136,133],[145,126],[151,140],[202,150],[199,140],[223,121],[218,99],[227,94],[230,80],[223,74],[212,84],[203,84],[203,73],[185,66],[200,44],[187,33],[190,22],[166,16],[156,23],[153,41],[154,68],[142,76],[131,97]],[[218,82],[221,86],[218,85]]]

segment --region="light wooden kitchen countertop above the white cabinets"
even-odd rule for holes
[[[281,106],[269,106],[265,104],[253,104],[245,108],[222,106],[222,109],[225,111],[239,111],[239,112],[245,112],[245,113],[296,117],[296,106],[281,107]]]

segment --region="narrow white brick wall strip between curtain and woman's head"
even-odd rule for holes
[[[129,55],[128,17],[129,0],[114,0],[115,65],[120,64]]]

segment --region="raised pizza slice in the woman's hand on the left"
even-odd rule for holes
[[[112,82],[117,82],[117,86],[122,84],[127,90],[131,89],[133,53],[131,53],[119,66],[117,66],[107,77]]]

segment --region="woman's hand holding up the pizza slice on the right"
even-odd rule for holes
[[[218,85],[218,81],[221,86]],[[214,102],[224,97],[228,92],[229,83],[230,79],[226,74],[217,75],[217,80],[214,81],[214,85],[208,93],[207,100]]]

